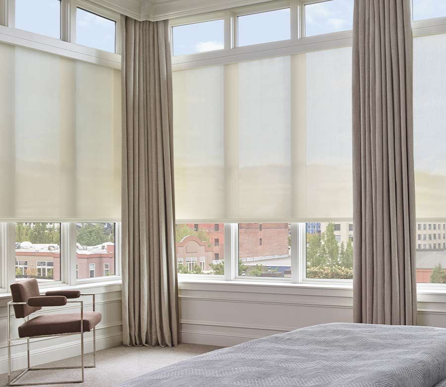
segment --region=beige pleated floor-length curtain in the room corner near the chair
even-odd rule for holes
[[[168,21],[122,25],[123,343],[172,346],[180,329]]]

